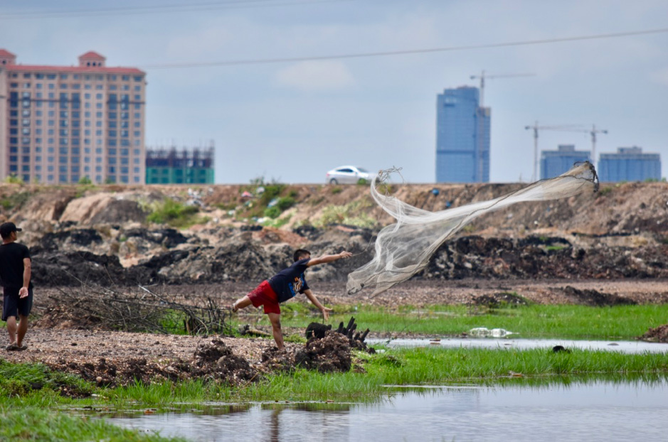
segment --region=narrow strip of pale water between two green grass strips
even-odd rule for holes
[[[604,341],[604,340],[566,340],[566,339],[512,339],[512,338],[440,338],[437,339],[372,339],[366,338],[367,345],[385,345],[398,347],[472,347],[472,348],[552,348],[561,345],[565,348],[583,350],[605,350],[623,353],[662,353],[668,352],[668,344],[645,343],[643,341]]]

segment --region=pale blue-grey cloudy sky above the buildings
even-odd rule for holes
[[[533,74],[486,81],[493,182],[531,179],[536,121],[595,124],[598,152],[640,146],[668,174],[665,0],[0,0],[0,48],[145,70],[147,146],[213,140],[216,183],[324,183],[347,163],[433,183],[436,95],[482,70]],[[435,48],[450,50],[327,58]],[[539,131],[539,149],[558,144],[591,148],[585,131]]]

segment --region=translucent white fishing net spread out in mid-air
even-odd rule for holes
[[[376,296],[409,279],[427,266],[443,242],[476,217],[515,203],[555,200],[585,191],[598,191],[596,171],[585,161],[576,163],[561,176],[537,181],[493,200],[430,212],[378,191],[383,183],[388,183],[391,174],[397,172],[396,169],[381,171],[371,181],[371,196],[397,222],[378,233],[375,257],[348,275],[346,290],[349,294],[373,289],[371,296]]]

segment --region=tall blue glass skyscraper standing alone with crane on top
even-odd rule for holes
[[[446,89],[436,111],[436,182],[489,182],[489,107],[477,87]]]

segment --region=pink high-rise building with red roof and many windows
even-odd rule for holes
[[[42,66],[0,49],[0,180],[144,183],[145,97],[146,72],[95,52]]]

